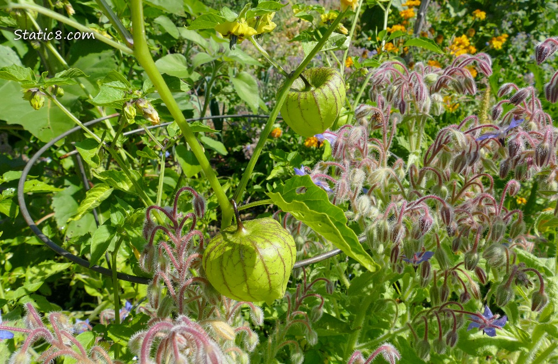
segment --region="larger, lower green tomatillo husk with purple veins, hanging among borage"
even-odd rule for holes
[[[272,304],[285,295],[295,264],[295,241],[274,219],[241,222],[236,214],[237,226],[224,228],[205,248],[205,274],[228,298]]]

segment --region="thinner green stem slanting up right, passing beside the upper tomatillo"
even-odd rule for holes
[[[306,56],[306,58],[302,61],[302,63],[298,66],[298,68],[285,80],[285,83],[283,83],[281,90],[277,94],[277,102],[276,102],[275,106],[273,107],[273,109],[270,113],[270,117],[267,119],[266,126],[263,128],[263,131],[259,136],[259,140],[258,140],[258,143],[256,145],[256,148],[254,148],[254,153],[252,154],[252,157],[251,157],[250,161],[248,162],[248,166],[246,167],[246,170],[244,171],[244,174],[242,175],[242,179],[240,179],[240,184],[238,185],[238,188],[234,193],[233,198],[237,203],[240,202],[240,199],[242,199],[242,194],[244,193],[244,190],[246,189],[246,185],[248,184],[248,180],[252,176],[252,171],[254,170],[254,166],[256,166],[256,162],[258,161],[258,157],[263,150],[263,145],[266,143],[267,137],[270,135],[270,132],[273,128],[273,123],[275,123],[275,120],[277,119],[279,111],[281,110],[281,107],[283,106],[283,103],[285,103],[285,100],[287,99],[287,94],[291,89],[292,83],[300,76],[300,74],[306,68],[306,66],[310,63],[312,58],[314,58],[314,56],[320,51],[321,47],[323,47],[323,45],[328,40],[331,33],[333,33],[333,31],[335,30],[337,25],[341,22],[341,19],[343,19],[343,17],[345,16],[345,13],[346,13],[346,11],[341,12],[339,14],[339,16],[334,20],[334,22],[331,24],[331,26],[325,32],[324,36],[321,37],[318,44],[316,44],[314,46],[314,48],[310,51],[310,53]]]

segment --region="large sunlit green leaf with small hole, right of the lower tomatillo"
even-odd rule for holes
[[[297,193],[301,187],[305,191]],[[281,210],[291,213],[369,271],[376,271],[376,264],[358,241],[357,234],[347,226],[343,210],[329,202],[328,194],[310,176],[294,176],[267,195]]]

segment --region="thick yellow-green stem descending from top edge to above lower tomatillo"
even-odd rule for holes
[[[161,73],[157,70],[155,62],[151,57],[151,52],[147,46],[147,40],[145,35],[145,23],[143,20],[143,4],[141,0],[132,0],[129,2],[130,10],[132,12],[132,28],[133,28],[133,39],[134,39],[134,55],[136,56],[138,63],[145,69],[147,75],[151,79],[151,82],[157,88],[157,92],[161,96],[161,99],[169,109],[175,122],[178,124],[180,131],[190,149],[196,156],[201,169],[205,173],[205,177],[208,179],[211,188],[217,197],[219,206],[222,209],[223,216],[221,220],[221,227],[227,227],[230,225],[233,219],[233,208],[225,195],[222,186],[215,175],[215,171],[211,167],[209,160],[201,149],[200,143],[194,136],[194,133],[190,130],[190,126],[186,121],[186,118],[182,114],[180,107],[176,103],[172,93],[165,83],[165,80],[161,76]]]

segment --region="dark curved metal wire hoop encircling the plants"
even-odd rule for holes
[[[109,116],[105,116],[102,118],[98,118],[98,119],[94,119],[92,121],[88,121],[83,123],[84,126],[90,126],[92,124],[98,123],[100,121],[106,120],[106,119],[110,119],[113,117],[118,116],[118,114],[112,114]],[[268,115],[256,115],[256,114],[235,114],[235,115],[218,115],[218,116],[207,116],[207,117],[203,117],[203,118],[193,118],[193,119],[187,119],[186,121],[201,121],[201,120],[205,120],[205,119],[224,119],[224,118],[268,118]],[[152,128],[157,128],[157,127],[162,127],[162,126],[167,126],[171,123],[162,123],[156,126],[150,126],[148,128],[152,129]],[[25,185],[25,181],[27,179],[27,175],[29,174],[31,168],[33,167],[33,165],[35,164],[35,162],[37,160],[39,160],[39,158],[42,156],[42,154],[44,154],[44,152],[46,152],[47,150],[49,150],[49,148],[53,145],[55,145],[55,143],[57,143],[58,141],[62,140],[63,138],[69,136],[71,133],[74,133],[76,131],[81,130],[80,126],[76,126],[74,128],[71,128],[70,130],[60,134],[59,136],[55,137],[54,139],[52,139],[50,142],[46,143],[41,149],[39,149],[39,151],[37,151],[35,153],[35,155],[33,155],[29,161],[27,162],[27,164],[25,165],[25,168],[23,168],[22,174],[21,174],[21,178],[18,182],[17,185],[17,200],[18,203],[20,204],[20,212],[21,215],[23,216],[23,219],[25,219],[25,222],[27,223],[27,225],[31,228],[31,231],[33,233],[35,233],[35,235],[37,237],[39,237],[39,239],[45,243],[45,245],[49,248],[51,248],[52,250],[54,250],[56,253],[58,253],[59,255],[65,257],[66,259],[79,264],[83,267],[86,267],[92,271],[98,272],[102,275],[105,276],[109,276],[112,277],[112,270],[107,269],[105,267],[99,266],[99,265],[93,265],[93,266],[89,266],[89,261],[86,261],[83,258],[80,258],[78,256],[73,255],[72,253],[70,253],[69,251],[65,250],[64,248],[62,248],[61,246],[57,245],[55,242],[53,242],[52,240],[49,239],[49,237],[47,237],[44,233],[42,233],[41,229],[39,229],[39,227],[37,227],[37,225],[35,224],[35,221],[33,221],[33,219],[31,218],[31,215],[29,214],[29,210],[27,209],[27,205],[25,202],[25,193],[23,192],[23,186]],[[139,133],[139,132],[143,132],[145,130],[143,129],[136,129],[136,130],[131,130],[128,131],[126,133],[123,133],[123,135],[132,135],[135,133]],[[75,154],[75,152],[72,152],[71,154]],[[68,155],[71,155],[70,153]],[[300,260],[297,261],[295,263],[294,269],[297,268],[301,268],[310,264],[314,264],[316,262],[322,261],[322,260],[326,260],[330,257],[333,257],[335,255],[338,255],[341,252],[341,250],[339,249],[334,249],[325,253],[321,253],[319,255],[316,255],[314,257],[311,258],[307,258],[304,260]],[[145,277],[140,277],[140,276],[136,276],[136,275],[130,275],[130,274],[126,274],[126,273],[122,273],[122,272],[117,272],[117,277],[120,280],[124,280],[124,281],[129,281],[129,282],[133,282],[133,283],[139,283],[139,284],[147,284],[149,282],[148,279],[146,279]]]

